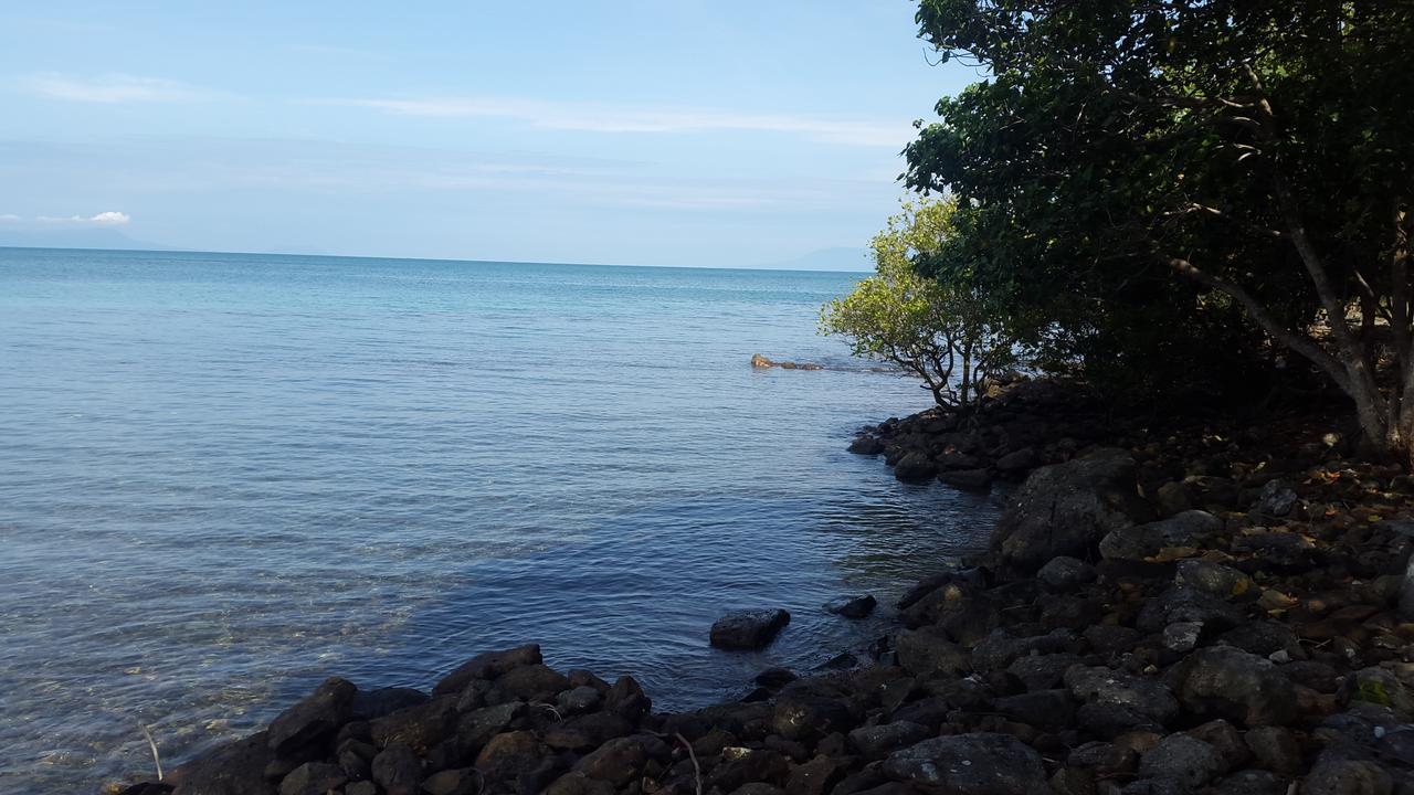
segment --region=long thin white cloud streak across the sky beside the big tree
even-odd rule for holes
[[[516,119],[536,127],[594,133],[687,133],[749,130],[803,134],[847,146],[902,147],[913,130],[909,123],[820,119],[778,113],[682,108],[615,108],[587,103],[553,103],[532,99],[328,99],[329,105],[373,108],[399,116],[443,119]]]

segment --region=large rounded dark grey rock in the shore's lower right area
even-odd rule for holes
[[[1297,717],[1297,692],[1271,661],[1230,646],[1209,646],[1171,672],[1174,692],[1196,714],[1246,726],[1287,726]]]

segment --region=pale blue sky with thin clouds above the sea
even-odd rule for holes
[[[977,79],[905,0],[0,4],[0,232],[790,265]]]

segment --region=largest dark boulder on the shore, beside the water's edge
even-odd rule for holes
[[[1099,450],[1031,472],[991,536],[1001,563],[1031,573],[1053,557],[1087,557],[1100,539],[1141,511],[1134,458]]]

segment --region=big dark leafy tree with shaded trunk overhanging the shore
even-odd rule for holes
[[[1241,313],[1414,460],[1414,4],[922,0],[918,21],[991,75],[906,150],[969,231],[926,270],[962,259],[1062,327],[1137,284],[1154,311]]]

